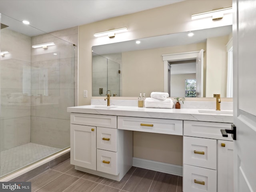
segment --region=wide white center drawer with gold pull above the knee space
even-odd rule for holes
[[[182,120],[118,116],[118,129],[182,135]]]

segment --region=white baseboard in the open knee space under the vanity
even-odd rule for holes
[[[182,166],[173,165],[169,163],[162,163],[152,160],[133,158],[132,166],[154,170],[158,172],[168,173],[172,175],[182,176]]]

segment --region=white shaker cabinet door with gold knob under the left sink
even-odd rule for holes
[[[96,170],[96,127],[70,125],[70,163]]]

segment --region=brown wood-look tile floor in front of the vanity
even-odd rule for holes
[[[182,192],[180,176],[132,167],[117,182],[77,171],[70,159],[28,181],[32,192]]]

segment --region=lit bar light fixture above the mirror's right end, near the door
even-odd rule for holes
[[[214,9],[211,11],[192,14],[192,20],[210,17],[210,16],[212,16],[212,20],[222,19],[224,17],[224,14],[231,13],[231,12],[232,12],[232,7]]]

